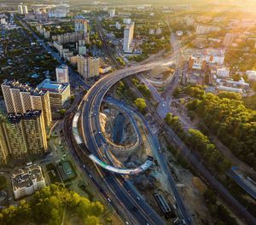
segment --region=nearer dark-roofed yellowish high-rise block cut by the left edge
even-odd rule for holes
[[[42,112],[8,113],[1,120],[0,138],[3,138],[1,142],[6,147],[5,152],[14,159],[26,159],[28,154],[45,153],[47,139]]]

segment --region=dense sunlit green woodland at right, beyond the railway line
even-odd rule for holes
[[[236,94],[196,95],[187,107],[241,160],[256,168],[256,111]]]

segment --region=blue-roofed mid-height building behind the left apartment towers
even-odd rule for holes
[[[49,103],[52,109],[64,107],[70,97],[70,85],[67,83],[57,83],[45,79],[38,85],[38,89],[49,91]]]

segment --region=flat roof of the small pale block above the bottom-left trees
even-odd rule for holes
[[[32,164],[23,169],[15,170],[12,174],[13,189],[18,190],[23,187],[31,187],[33,182],[44,181],[41,167],[37,164]]]

